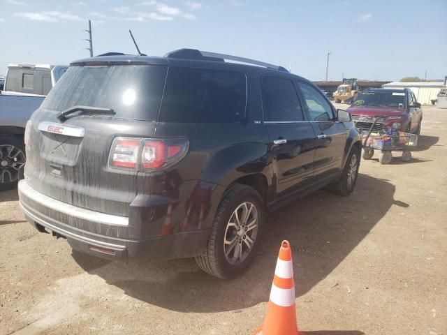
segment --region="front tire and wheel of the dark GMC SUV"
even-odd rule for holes
[[[353,147],[349,153],[342,172],[342,177],[335,184],[329,185],[329,190],[337,195],[350,195],[356,187],[358,168],[360,168],[360,150]]]

